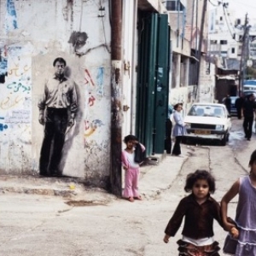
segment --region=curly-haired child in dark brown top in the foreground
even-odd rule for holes
[[[220,206],[210,195],[215,191],[215,179],[205,170],[189,173],[185,196],[167,224],[164,241],[175,236],[185,217],[182,239],[177,241],[179,256],[219,256],[218,241],[213,239],[213,219],[222,226]]]

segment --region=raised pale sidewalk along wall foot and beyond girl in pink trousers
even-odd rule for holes
[[[188,151],[183,146],[184,157],[158,155],[154,164],[141,167],[139,190],[144,198],[154,198],[171,186],[187,159]],[[0,193],[56,195],[90,202],[116,199],[104,189],[86,187],[83,182],[83,179],[72,177],[0,176]]]

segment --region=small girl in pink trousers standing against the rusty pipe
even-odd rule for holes
[[[137,137],[127,135],[124,140],[126,148],[122,152],[122,165],[125,169],[125,189],[123,196],[133,202],[135,199],[143,200],[138,193],[138,179],[140,164],[135,161],[135,147],[145,150],[143,144],[138,143]]]

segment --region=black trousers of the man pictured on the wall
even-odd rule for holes
[[[67,108],[47,108],[45,113],[44,141],[41,148],[40,175],[60,175],[62,148],[67,130]]]

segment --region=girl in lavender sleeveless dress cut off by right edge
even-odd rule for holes
[[[224,253],[236,256],[256,255],[256,150],[251,154],[249,167],[249,175],[238,178],[221,201],[224,229],[231,234],[234,227],[239,230],[237,234],[231,235],[233,239],[227,236]],[[228,204],[237,194],[235,223],[230,223],[227,217]]]

